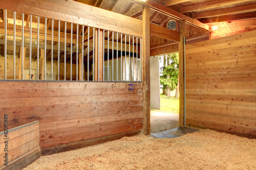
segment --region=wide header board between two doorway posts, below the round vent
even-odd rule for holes
[[[178,31],[169,30],[167,28],[157,26],[154,23],[150,23],[150,35],[177,42],[180,41],[180,34]]]

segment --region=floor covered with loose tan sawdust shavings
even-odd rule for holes
[[[178,138],[123,137],[42,156],[25,169],[256,169],[256,139],[212,130]]]

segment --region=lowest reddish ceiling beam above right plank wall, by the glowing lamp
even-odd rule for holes
[[[238,21],[238,20],[246,20],[256,18],[256,13],[248,13],[248,14],[239,14],[239,15],[229,15],[229,16],[221,16],[215,18],[207,18],[203,19],[203,23],[212,23],[212,22],[225,22],[225,21]]]

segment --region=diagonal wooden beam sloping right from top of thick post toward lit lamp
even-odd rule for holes
[[[209,26],[204,25],[204,23],[200,22],[197,19],[190,18],[190,17],[188,17],[188,16],[186,16],[182,13],[179,13],[178,11],[175,11],[173,9],[165,7],[165,6],[163,6],[161,4],[158,4],[154,1],[148,1],[146,4],[148,6],[150,6],[151,9],[153,9],[157,12],[163,13],[163,14],[168,15],[170,17],[174,17],[176,19],[183,19],[187,23],[189,23],[190,25],[196,26],[196,27],[201,28],[201,29],[206,30],[206,31],[210,31]]]

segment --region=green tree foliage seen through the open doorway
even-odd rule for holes
[[[165,56],[164,56],[165,57]],[[163,85],[163,89],[168,86],[170,90],[177,88],[179,77],[179,54],[167,55],[167,65],[160,68],[160,84]]]

